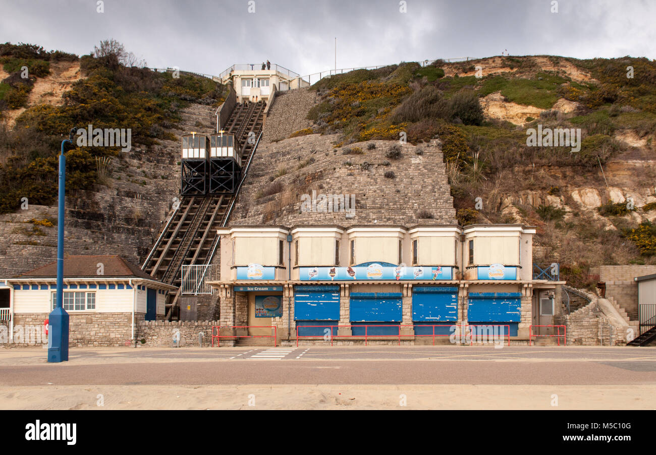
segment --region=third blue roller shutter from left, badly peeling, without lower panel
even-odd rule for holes
[[[458,320],[458,288],[420,286],[412,290],[413,321],[447,323]]]

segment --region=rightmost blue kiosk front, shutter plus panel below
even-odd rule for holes
[[[470,292],[467,320],[470,325],[509,325],[510,336],[517,336],[521,309],[520,292]],[[506,330],[501,327],[501,334],[507,335]]]

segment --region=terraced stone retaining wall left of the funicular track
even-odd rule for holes
[[[176,136],[213,132],[215,108],[182,109]],[[113,158],[106,184],[66,197],[66,253],[121,254],[141,265],[180,193],[180,143],[162,140]],[[0,276],[20,275],[56,259],[57,207],[28,205],[0,215]],[[33,224],[50,220],[55,226]],[[47,224],[47,223],[46,223]]]

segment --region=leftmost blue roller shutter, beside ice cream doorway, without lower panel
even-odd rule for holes
[[[339,321],[339,286],[294,288],[296,321]]]

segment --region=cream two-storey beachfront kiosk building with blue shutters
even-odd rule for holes
[[[525,344],[529,330],[550,334],[541,326],[561,313],[563,283],[533,276],[531,227],[232,226],[218,234],[221,279],[210,284],[222,332],[241,342],[469,344],[467,334],[493,330]]]

